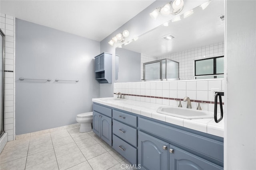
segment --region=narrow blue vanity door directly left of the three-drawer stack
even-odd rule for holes
[[[101,139],[112,146],[112,119],[101,115]]]

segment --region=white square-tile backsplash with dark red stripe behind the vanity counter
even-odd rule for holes
[[[188,96],[192,101],[192,108],[196,108],[198,102],[203,102],[205,104],[200,104],[202,109],[208,111],[214,111],[212,88],[224,91],[224,79],[114,83],[114,93],[121,92],[129,100],[170,106],[178,106],[176,100],[181,100],[182,106],[186,107],[183,98]],[[224,98],[222,102],[225,102]]]

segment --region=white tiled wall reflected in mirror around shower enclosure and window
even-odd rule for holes
[[[194,79],[194,60],[221,55],[224,55],[223,42],[159,57],[141,54],[141,77],[143,79],[143,63],[160,59],[171,59],[180,63],[180,80],[191,80]]]

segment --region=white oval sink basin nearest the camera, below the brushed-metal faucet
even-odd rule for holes
[[[213,118],[214,114],[208,111],[187,109],[181,107],[159,107],[157,109],[158,113],[165,115],[180,117],[184,119],[202,119],[202,118]]]

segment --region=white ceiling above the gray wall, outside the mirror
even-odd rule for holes
[[[0,11],[102,41],[155,0],[1,0]]]

